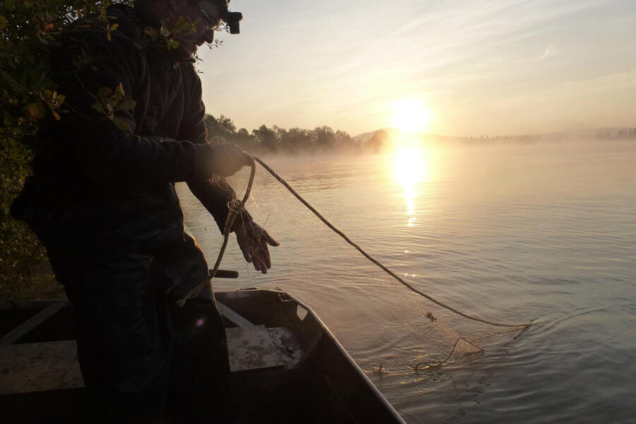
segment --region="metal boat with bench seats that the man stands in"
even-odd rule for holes
[[[404,423],[310,307],[279,290],[215,297],[237,423]],[[67,301],[0,305],[3,423],[77,422],[88,404],[71,308]],[[11,317],[21,322],[8,329]]]

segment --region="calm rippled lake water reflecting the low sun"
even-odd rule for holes
[[[217,290],[278,286],[310,304],[408,423],[636,423],[636,142],[265,160],[413,285],[536,324],[502,331],[410,294],[262,173],[249,210],[281,242],[273,269],[249,271],[232,246],[223,267],[242,275]],[[218,229],[179,194],[213,262]],[[483,353],[460,342],[448,365],[416,369],[459,336]]]

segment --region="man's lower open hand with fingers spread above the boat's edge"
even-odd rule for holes
[[[240,223],[234,231],[245,260],[251,262],[257,271],[267,273],[267,270],[271,268],[267,245],[276,247],[280,246],[280,243],[273,240],[260,225],[252,220]]]

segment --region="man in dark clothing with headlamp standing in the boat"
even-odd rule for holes
[[[211,289],[176,305],[208,265],[184,229],[175,182],[223,230],[235,193],[222,177],[252,161],[206,141],[193,54],[222,19],[240,20],[225,0],[137,0],[78,21],[52,55],[68,112],[40,131],[34,175],[12,212],[40,237],[73,302],[86,387],[110,423],[158,423],[167,406],[187,422],[228,418]],[[231,230],[266,273],[267,246],[278,243],[247,211]]]

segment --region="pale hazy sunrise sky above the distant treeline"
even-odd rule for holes
[[[245,18],[201,48],[208,113],[238,127],[391,125],[526,134],[636,126],[636,0],[232,0]]]

